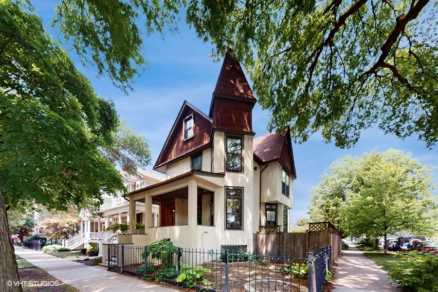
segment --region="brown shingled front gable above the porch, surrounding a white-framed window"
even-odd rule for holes
[[[193,114],[194,120],[193,137],[184,141],[183,121],[185,117],[191,114]],[[184,100],[153,169],[165,173],[165,165],[168,162],[190,155],[193,151],[208,145],[210,143],[211,127],[212,119]]]

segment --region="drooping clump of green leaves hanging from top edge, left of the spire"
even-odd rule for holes
[[[129,82],[146,68],[143,36],[177,30],[176,21],[185,0],[121,1],[63,0],[57,5],[59,26],[67,40],[72,39],[84,64],[96,66],[115,85],[132,89]],[[146,30],[139,28],[145,22]],[[91,57],[91,59],[90,59]]]

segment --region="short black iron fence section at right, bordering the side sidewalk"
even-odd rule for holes
[[[320,292],[331,276],[331,246],[308,254],[309,292]]]

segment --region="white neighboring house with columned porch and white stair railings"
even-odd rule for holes
[[[128,192],[139,190],[150,185],[164,181],[163,175],[138,168],[135,175],[128,175],[123,169],[119,170],[123,177],[123,182]],[[129,223],[129,201],[118,192],[116,197],[103,194],[104,200],[101,206],[100,216],[93,218],[87,214],[82,215],[82,221],[79,225],[79,233],[74,237],[63,241],[63,246],[77,249],[82,246],[88,246],[90,242],[102,242],[108,239],[112,234],[105,232],[107,227],[116,223]],[[151,226],[158,226],[157,205],[152,205],[150,213]],[[145,204],[138,202],[135,206],[135,217],[133,222],[143,222],[145,213]]]

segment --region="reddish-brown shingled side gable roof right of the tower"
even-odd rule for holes
[[[289,127],[286,127],[281,133],[272,132],[257,137],[253,143],[256,160],[262,163],[278,160],[296,178]]]

